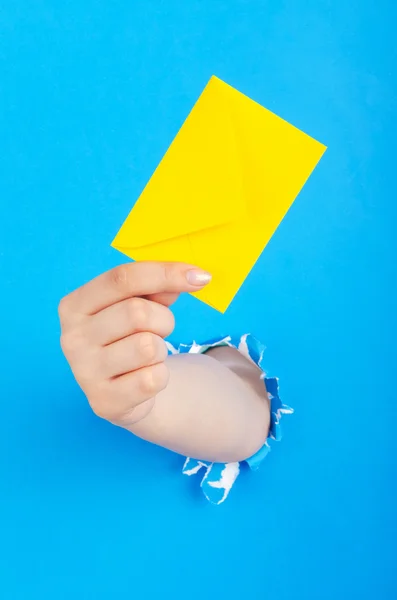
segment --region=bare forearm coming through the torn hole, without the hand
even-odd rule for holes
[[[223,364],[209,355],[169,357],[167,388],[137,407],[131,420],[140,420],[119,424],[145,440],[202,460],[235,462],[253,455],[268,434],[266,390],[256,366],[242,357],[233,371],[227,359]]]

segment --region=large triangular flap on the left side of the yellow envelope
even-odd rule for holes
[[[155,244],[229,223],[244,213],[239,153],[220,83],[216,78],[208,83],[113,246]]]

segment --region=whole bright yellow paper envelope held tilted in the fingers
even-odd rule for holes
[[[112,246],[208,270],[224,312],[325,149],[212,77]]]

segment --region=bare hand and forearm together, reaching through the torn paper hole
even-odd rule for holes
[[[258,367],[230,348],[168,357],[164,342],[169,306],[210,279],[182,263],[116,267],[61,300],[61,346],[99,417],[180,454],[234,462],[267,437]]]

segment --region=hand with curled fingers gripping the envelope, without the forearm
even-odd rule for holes
[[[131,424],[150,412],[168,383],[168,305],[210,279],[182,263],[130,263],[61,300],[62,350],[98,416]]]

